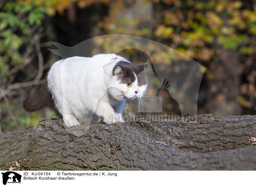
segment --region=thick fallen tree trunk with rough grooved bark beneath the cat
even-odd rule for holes
[[[256,115],[67,128],[61,119],[0,134],[1,170],[256,170]]]

